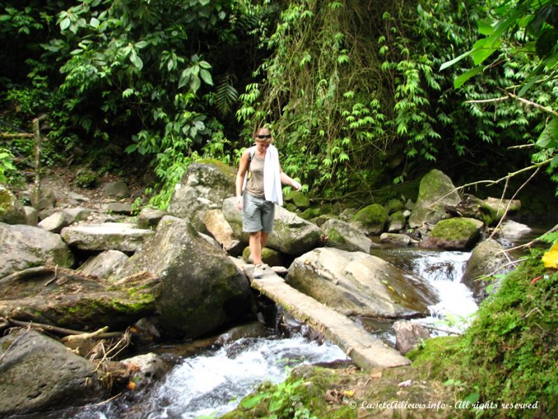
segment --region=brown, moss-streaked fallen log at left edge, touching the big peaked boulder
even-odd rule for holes
[[[0,317],[75,330],[123,330],[156,311],[160,281],[148,272],[116,283],[77,270],[31,267],[0,279]]]

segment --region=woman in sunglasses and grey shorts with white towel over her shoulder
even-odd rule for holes
[[[297,191],[302,186],[281,170],[269,128],[255,129],[254,140],[256,145],[242,154],[236,173],[236,207],[242,211],[242,230],[250,233],[250,253],[255,265],[252,277],[261,278],[262,249],[273,231],[275,205],[283,203],[281,184],[291,185]]]

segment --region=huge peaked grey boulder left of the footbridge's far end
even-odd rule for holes
[[[142,270],[163,281],[153,322],[166,337],[198,337],[251,312],[246,276],[186,220],[163,219],[119,274]]]

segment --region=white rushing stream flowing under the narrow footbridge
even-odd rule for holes
[[[436,329],[463,330],[477,309],[472,292],[460,282],[470,252],[435,251],[416,248],[372,249],[379,256],[400,267],[409,279],[425,281],[435,288],[439,302],[430,316],[414,319]],[[365,328],[388,344],[395,344],[393,321],[367,323]],[[304,328],[305,326],[303,326]],[[89,406],[66,411],[57,418],[199,418],[219,417],[232,411],[242,397],[260,383],[280,383],[289,369],[301,363],[345,361],[347,356],[334,344],[317,344],[303,334],[291,337],[250,337],[220,348],[206,348],[196,355],[182,356],[174,368],[151,390],[133,400],[117,399],[103,406]]]

